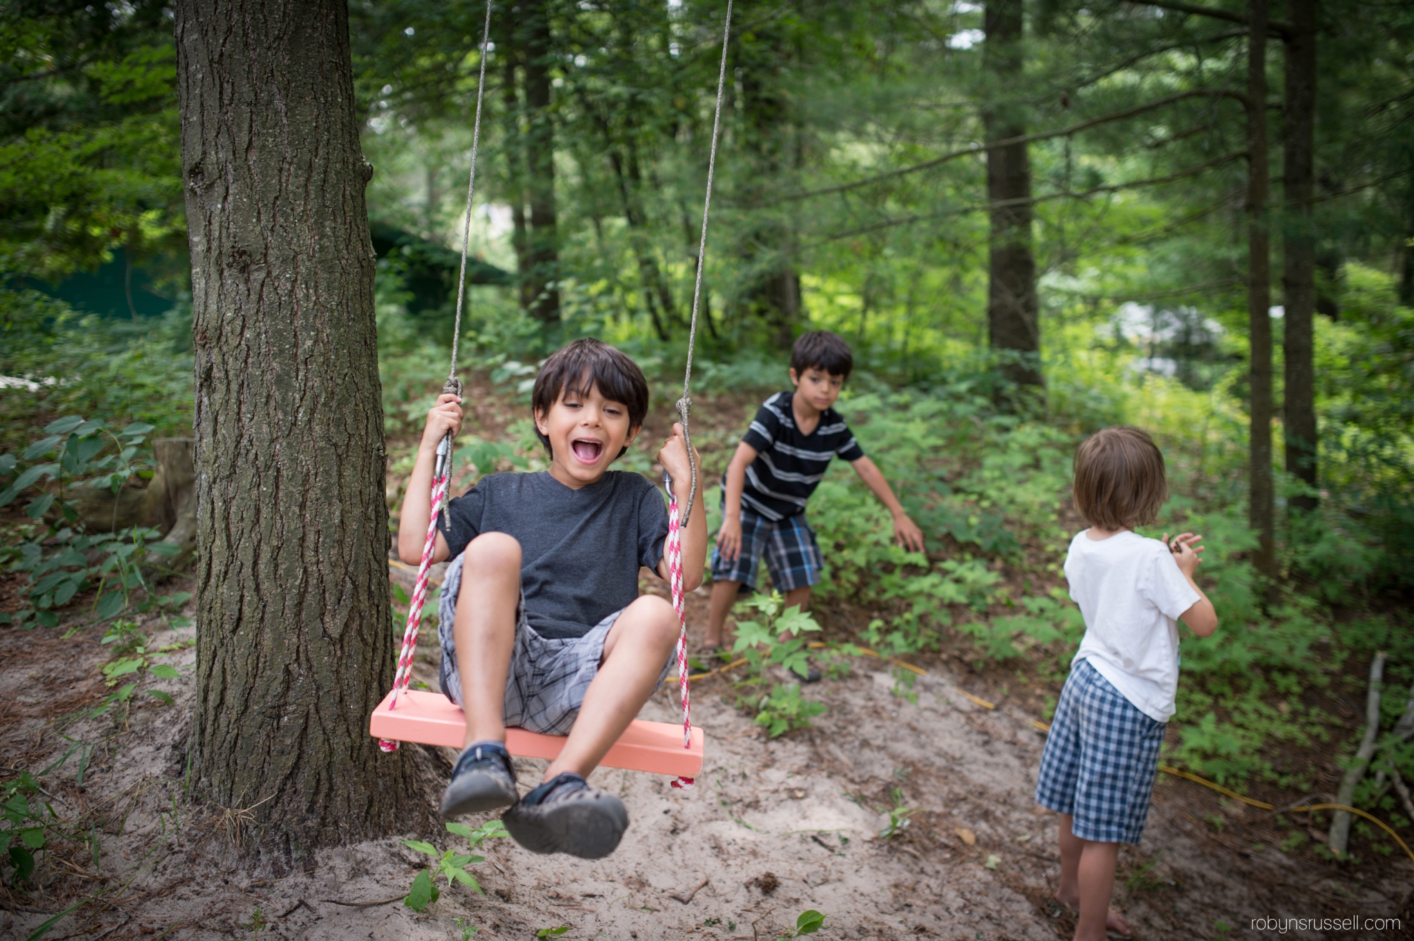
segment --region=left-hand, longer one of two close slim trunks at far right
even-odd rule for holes
[[[1251,456],[1247,519],[1257,571],[1275,575],[1271,483],[1271,249],[1267,168],[1267,0],[1247,0],[1247,329],[1251,343]]]

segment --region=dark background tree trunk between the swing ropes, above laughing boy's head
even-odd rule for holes
[[[560,319],[560,239],[554,205],[554,122],[550,114],[550,0],[522,4],[525,30],[526,107],[530,127],[526,155],[530,167],[530,314],[553,324]]]

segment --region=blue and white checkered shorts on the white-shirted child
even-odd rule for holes
[[[1080,660],[1056,704],[1036,803],[1072,814],[1072,832],[1080,839],[1140,842],[1167,728]]]

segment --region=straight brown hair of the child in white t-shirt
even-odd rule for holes
[[[1090,526],[1127,530],[1152,523],[1168,499],[1164,455],[1148,434],[1102,428],[1075,452],[1075,509]]]

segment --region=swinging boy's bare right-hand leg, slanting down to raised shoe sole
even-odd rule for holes
[[[561,771],[588,777],[598,767],[653,695],[676,643],[677,613],[667,599],[643,595],[624,609],[604,641],[604,660],[584,694],[570,738],[544,771],[546,781]]]

